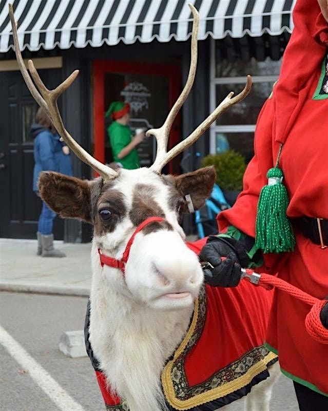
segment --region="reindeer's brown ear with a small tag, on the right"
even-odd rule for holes
[[[175,177],[177,190],[183,197],[190,195],[195,210],[200,209],[210,196],[216,180],[213,166]],[[186,210],[187,211],[187,210]]]

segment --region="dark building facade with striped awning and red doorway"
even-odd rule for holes
[[[41,201],[32,192],[33,141],[29,127],[37,105],[18,71],[8,1],[0,6],[0,184],[4,193],[0,236],[34,238]],[[24,59],[32,59],[48,88],[75,69],[80,74],[59,101],[69,133],[94,157],[111,161],[105,112],[113,100],[131,105],[131,127],[159,127],[188,76],[192,19],[181,0],[15,0]],[[278,79],[293,23],[292,0],[195,0],[200,13],[194,87],[173,123],[169,146],[187,137],[217,104],[239,92],[247,74],[251,94],[220,117],[199,141],[173,160],[166,173],[195,170],[197,153],[228,146],[247,161],[260,107]],[[155,141],[138,148],[152,163]],[[72,155],[74,175],[92,178]],[[186,219],[187,233],[193,230]],[[90,227],[57,219],[55,238],[89,241]]]

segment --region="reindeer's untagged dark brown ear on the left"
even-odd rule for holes
[[[38,179],[40,195],[55,213],[90,223],[93,220],[91,202],[94,200],[94,191],[100,193],[102,184],[101,178],[80,180],[49,171],[40,173]]]

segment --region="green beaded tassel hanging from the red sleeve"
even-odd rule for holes
[[[286,215],[288,195],[282,184],[283,173],[274,167],[266,176],[268,185],[262,188],[258,202],[255,244],[264,253],[293,251],[296,242]]]

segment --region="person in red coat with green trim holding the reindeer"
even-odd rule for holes
[[[247,166],[243,191],[231,209],[218,215],[220,234],[209,237],[200,259],[214,266],[205,270],[210,285],[236,286],[240,256],[246,252],[248,267],[278,273],[324,300],[328,296],[327,0],[298,0],[293,20],[279,80],[258,117],[255,156]],[[282,182],[289,199],[284,213],[280,194],[273,189],[276,184],[282,190]],[[285,219],[274,221],[276,215]],[[275,290],[266,342],[279,354],[281,371],[294,381],[300,410],[322,411],[328,410],[328,345],[306,332],[309,310],[305,303]],[[320,319],[328,328],[328,304]]]

